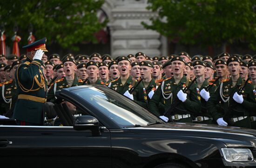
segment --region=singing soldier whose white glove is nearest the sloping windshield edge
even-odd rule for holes
[[[132,94],[128,92],[130,88],[135,87],[137,84],[137,81],[129,74],[129,71],[131,70],[131,62],[129,58],[127,56],[121,56],[117,62],[120,77],[114,81],[111,81],[108,84],[108,87],[114,89],[118,93],[125,95],[131,100],[134,100],[139,105],[147,108],[147,95],[146,90],[143,89],[142,83],[140,83],[139,86],[135,88]]]

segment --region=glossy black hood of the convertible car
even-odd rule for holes
[[[128,128],[129,130],[139,131],[143,133],[155,133],[161,137],[180,136],[180,137],[196,137],[201,139],[222,141],[229,147],[248,146],[256,148],[256,130],[218,126],[211,124],[193,124],[193,123],[164,123],[154,124],[142,127]]]

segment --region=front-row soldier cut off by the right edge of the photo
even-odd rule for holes
[[[252,106],[250,106],[251,109],[254,109],[250,112],[250,120],[251,120],[251,128],[256,129],[256,61],[252,61],[249,63],[249,75],[250,79],[253,84],[253,94],[255,102]],[[248,105],[247,105],[248,106]]]

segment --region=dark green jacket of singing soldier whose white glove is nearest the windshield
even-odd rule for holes
[[[137,84],[137,81],[131,77],[128,77],[126,83],[122,85],[121,78],[118,78],[114,81],[111,81],[108,84],[108,87],[112,88],[113,90],[117,91],[118,93],[124,94],[127,90],[129,90],[132,86]],[[146,89],[143,87],[142,83],[134,90],[133,98],[136,103],[139,105],[148,108],[148,101],[147,101],[147,93]]]

